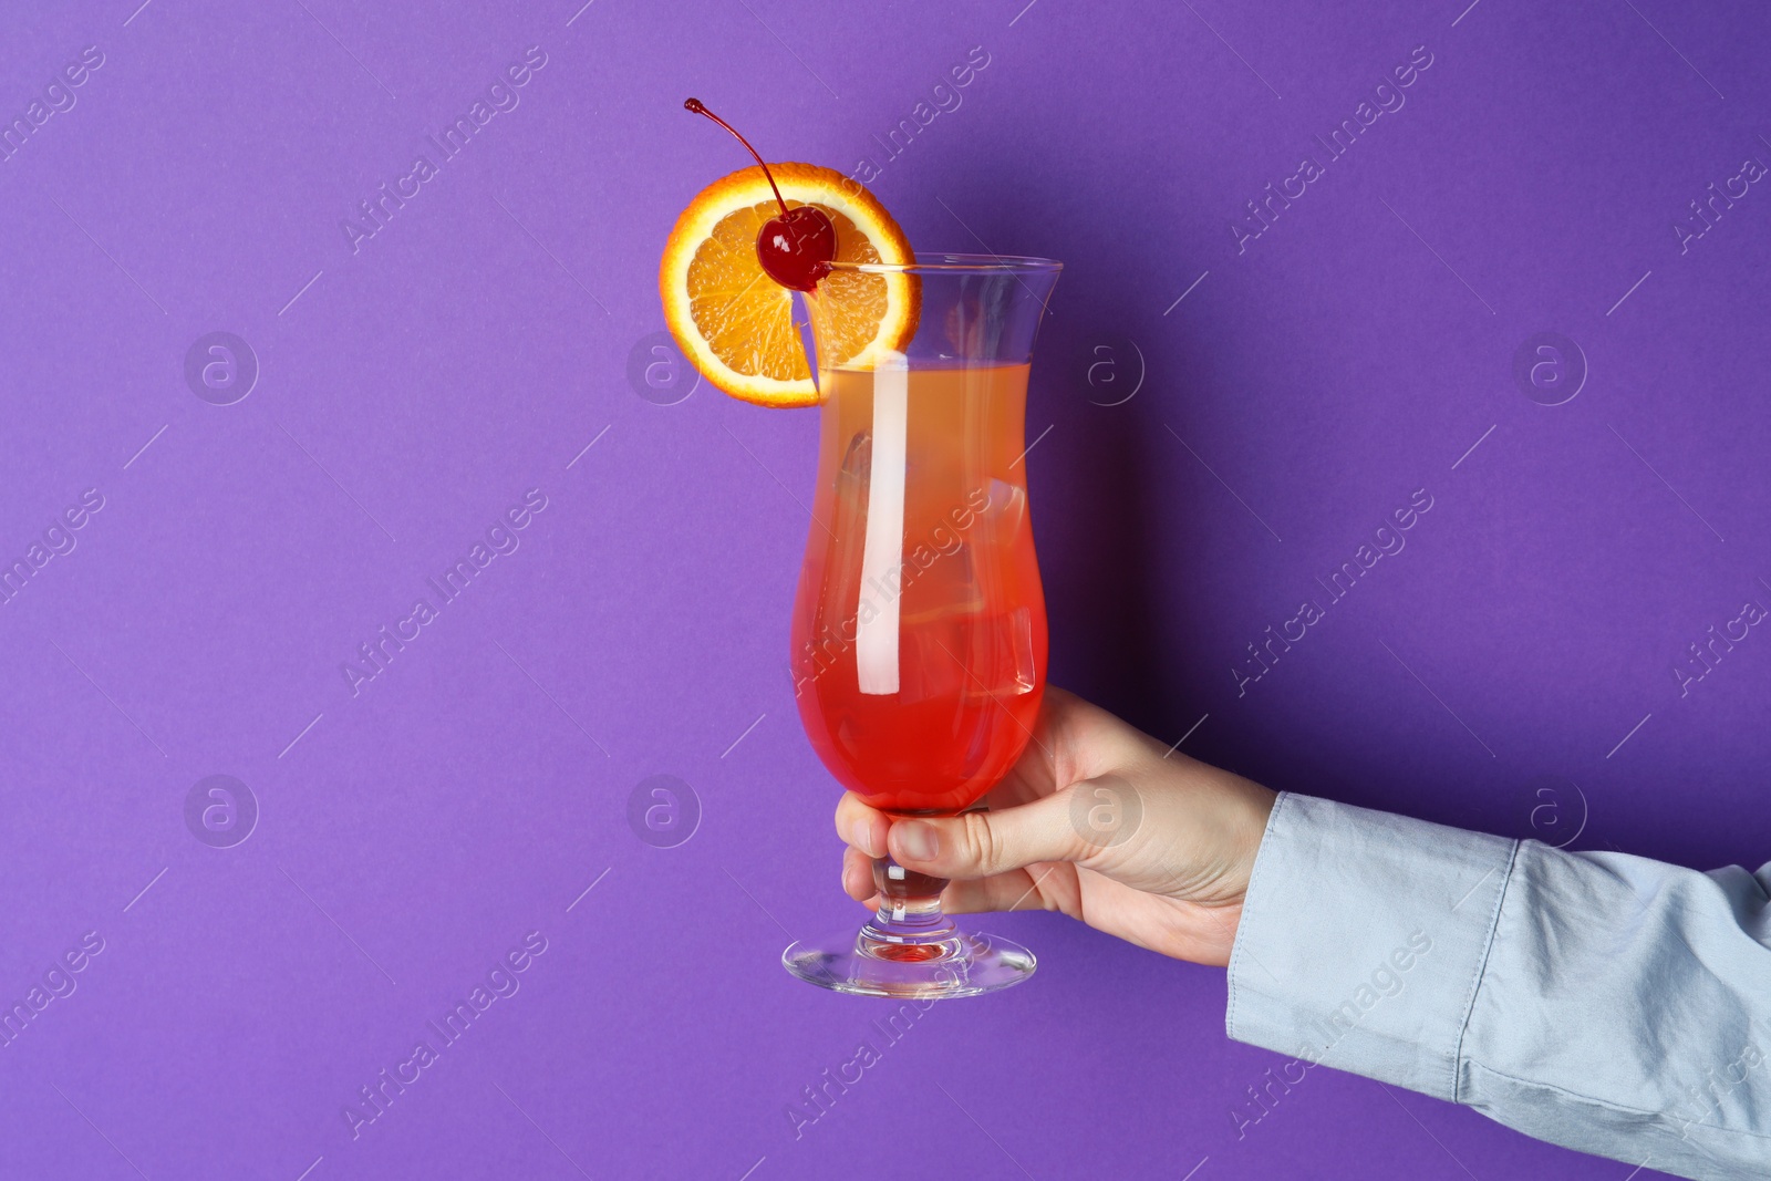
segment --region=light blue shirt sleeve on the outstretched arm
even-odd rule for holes
[[[1698,873],[1282,791],[1226,1029],[1530,1137],[1771,1177],[1771,864]],[[1250,1117],[1257,1117],[1257,1110]]]

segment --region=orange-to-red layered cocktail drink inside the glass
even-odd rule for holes
[[[827,476],[793,609],[799,714],[831,774],[875,807],[955,813],[1020,758],[1045,689],[1027,365],[905,368],[901,391],[882,395],[893,382],[875,375],[822,375]],[[882,416],[901,428],[901,459],[875,482]],[[873,501],[893,528],[870,521]]]

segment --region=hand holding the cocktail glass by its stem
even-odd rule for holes
[[[1061,910],[1176,960],[1229,963],[1275,793],[1047,687],[1032,742],[988,811],[900,818],[836,806],[843,889],[877,907],[873,859],[951,878],[949,914]]]

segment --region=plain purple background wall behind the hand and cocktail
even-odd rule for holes
[[[664,405],[685,379],[629,356],[675,214],[744,163],[685,96],[774,158],[884,161],[917,244],[1068,264],[1029,409],[1054,682],[1275,788],[1755,866],[1771,637],[1672,669],[1771,604],[1771,191],[1674,225],[1771,161],[1760,7],[135,2],[0,39],[7,120],[104,55],[0,163],[0,560],[104,498],[0,607],[0,1000],[104,940],[0,1048],[0,1174],[1620,1176],[1332,1071],[1238,1139],[1284,1059],[1226,1041],[1224,974],[1054,915],[995,921],[1031,984],[898,1043],[792,981],[790,935],[859,919],[786,676],[815,414]],[[528,46],[521,104],[352,251]],[[211,331],[262,370],[232,405],[184,377]],[[1590,368],[1562,405],[1514,375],[1539,331]],[[352,696],[526,489],[521,547]],[[1238,696],[1415,489],[1406,549]],[[232,848],[186,825],[211,774],[260,807]],[[653,774],[698,799],[675,848],[627,822]],[[352,1139],[528,931],[521,990]]]

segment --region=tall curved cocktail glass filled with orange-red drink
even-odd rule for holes
[[[995,255],[838,262],[806,296],[818,489],[793,607],[799,715],[831,774],[894,816],[953,816],[1032,740],[1045,598],[1027,515],[1027,372],[1061,264]],[[909,282],[900,282],[909,280]],[[917,299],[900,349],[847,359],[843,305]],[[967,997],[1034,970],[965,933],[944,878],[877,859],[859,933],[795,942],[793,976],[873,997]]]

